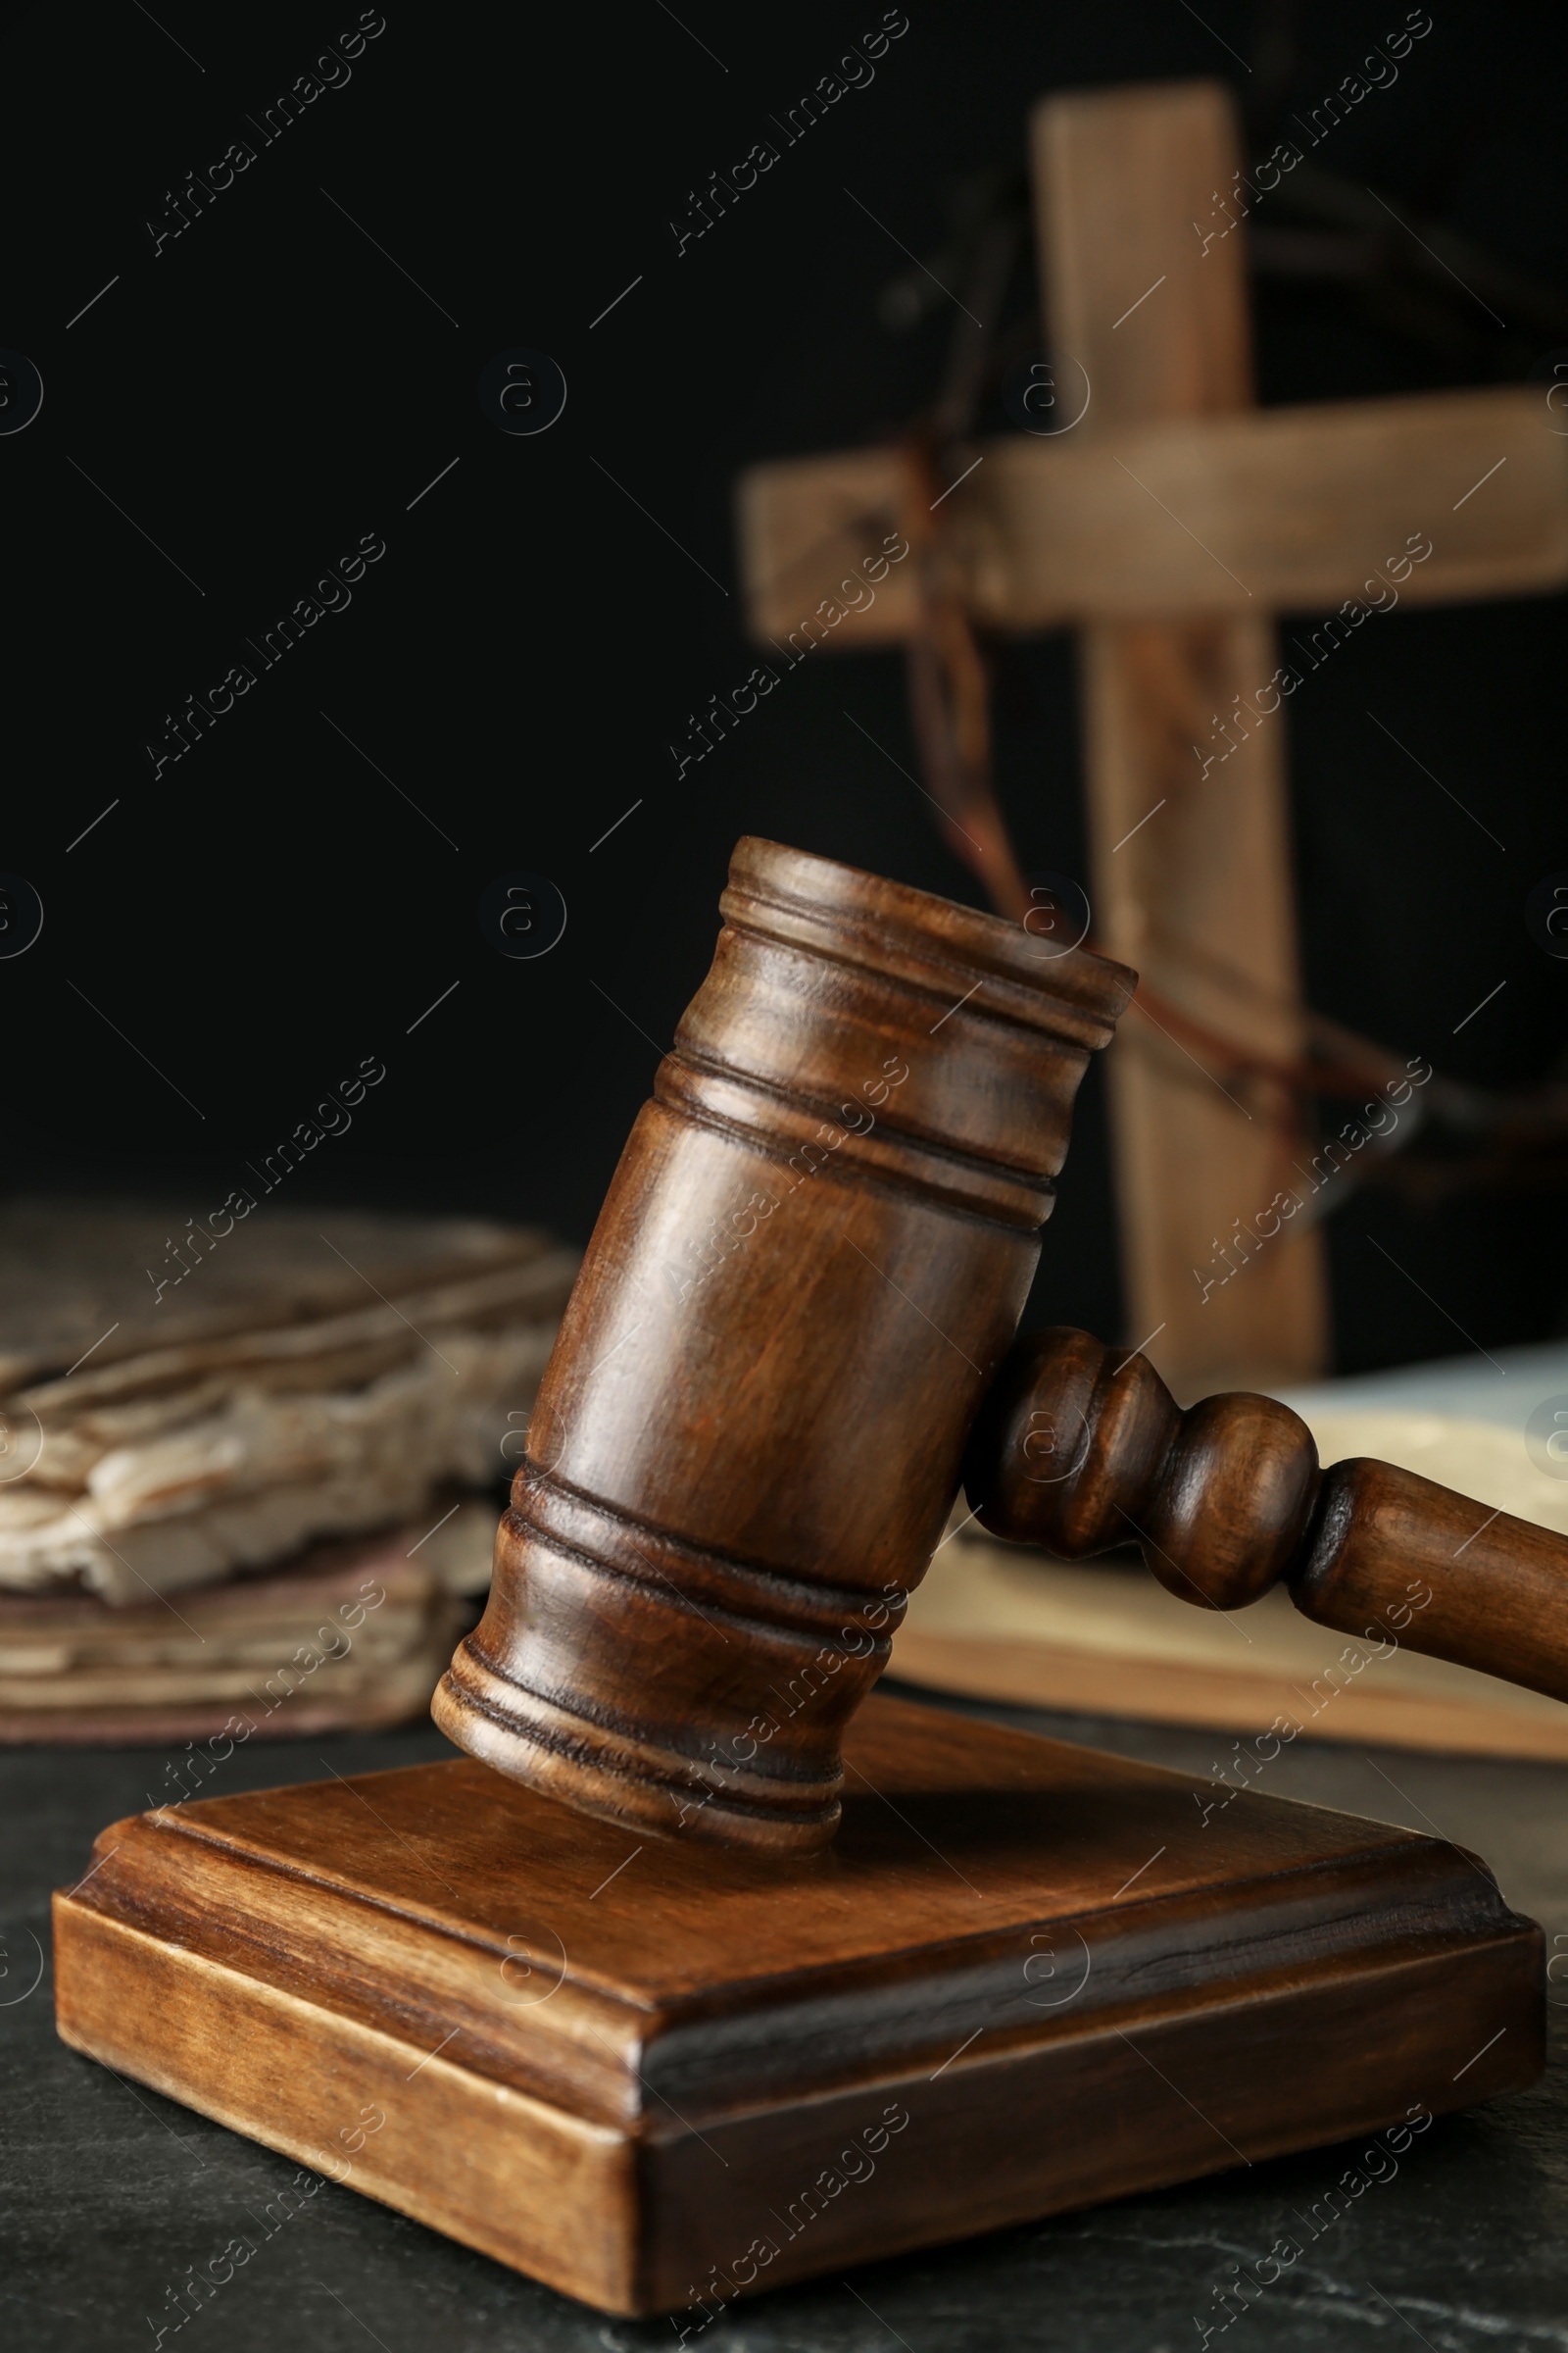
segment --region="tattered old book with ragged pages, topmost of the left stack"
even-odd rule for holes
[[[42,1374],[0,1409],[0,1586],[129,1607],[505,1471],[576,1252],[477,1221],[273,1209],[193,1257],[160,1322],[162,1297],[122,1297],[158,1226],[0,1214],[0,1278],[16,1275],[0,1355]]]

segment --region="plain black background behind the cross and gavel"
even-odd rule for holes
[[[1314,160],[1568,306],[1563,12],[1432,0],[1432,14],[1396,87]],[[731,485],[755,456],[879,438],[933,395],[950,315],[882,325],[910,264],[846,186],[931,259],[961,184],[1023,169],[1037,94],[1218,75],[1258,155],[1406,9],[1206,0],[1201,16],[1180,0],[910,0],[875,82],[677,259],[668,221],[689,191],[771,136],[769,115],[879,24],[872,0],[745,16],[682,0],[682,21],[658,0],[390,0],[353,80],[266,148],[247,113],[357,9],[14,12],[0,344],[42,369],[45,407],[0,438],[0,868],[38,887],[47,918],[35,948],[0,962],[0,1188],[132,1191],[200,1217],[374,1054],[386,1082],[292,1198],[585,1238],[708,965],[736,835],[973,899],[926,802],[846,720],[914,767],[898,656],[813,656],[675,781],[686,713],[752,661]],[[240,136],[256,162],[153,256],[146,219]],[[1497,329],[1458,287],[1410,315],[1321,275],[1260,278],[1255,322],[1265,402],[1519,381],[1568,346],[1549,301]],[[567,374],[541,438],[480,412],[480,369],[510,346]],[[252,661],[244,638],[364,532],[388,553],[350,609],[155,781],[143,746],[162,744],[165,713]],[[1568,868],[1563,614],[1563,598],[1401,609],[1288,706],[1312,1000],[1488,1085],[1544,1075],[1563,1042],[1568,967],[1523,927],[1530,887]],[[1368,704],[1505,852],[1368,725]],[[1025,868],[1081,875],[1067,638],[997,649],[997,772]],[[477,929],[480,892],[512,868],[552,878],[569,906],[538,962],[503,960]],[[1363,1193],[1331,1226],[1342,1365],[1460,1346],[1363,1233],[1481,1344],[1563,1327],[1552,1195]],[[1095,1080],[1039,1299],[1119,1327]]]

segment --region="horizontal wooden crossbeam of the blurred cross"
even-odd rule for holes
[[[999,631],[1568,581],[1568,438],[1528,391],[1178,416],[1077,445],[1018,435],[978,456],[936,522],[945,576]],[[929,480],[896,447],[755,466],[741,567],[757,638],[813,616],[839,649],[907,638],[917,567],[882,567],[872,588],[865,562],[889,532],[931,539],[929,506]]]

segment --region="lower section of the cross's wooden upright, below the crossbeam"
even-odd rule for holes
[[[1279,725],[1253,729],[1208,774],[1194,758],[1213,715],[1253,694],[1272,666],[1262,619],[1105,626],[1079,647],[1095,936],[1135,955],[1166,1007],[1265,1061],[1293,1061],[1302,1024],[1286,739]],[[1206,967],[1215,944],[1241,986]],[[1211,1068],[1171,1033],[1168,1014],[1143,1007],[1107,1082],[1126,1337],[1185,1398],[1319,1374],[1328,1301],[1316,1226],[1284,1228],[1244,1282],[1213,1297],[1201,1287],[1215,1242],[1267,1209],[1309,1151],[1291,1099]]]

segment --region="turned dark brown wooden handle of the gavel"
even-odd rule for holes
[[[1321,1471],[1274,1398],[1182,1412],[1154,1367],[1088,1332],[1004,1358],[964,1457],[983,1527],[1065,1560],[1138,1544],[1171,1593],[1239,1609],[1284,1579],[1321,1626],[1568,1699],[1568,1541],[1413,1471]]]

